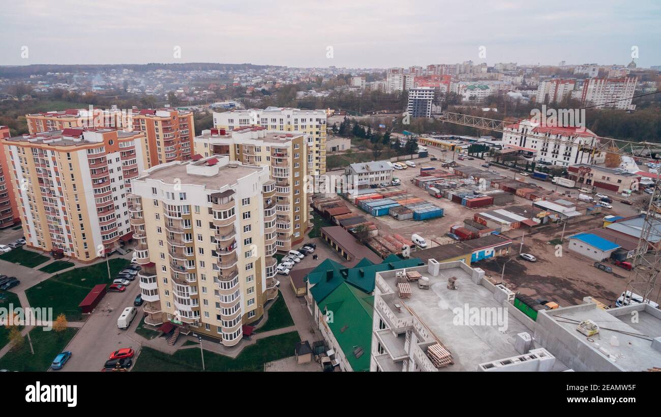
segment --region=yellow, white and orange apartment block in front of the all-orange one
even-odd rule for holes
[[[130,239],[126,196],[147,163],[141,132],[67,128],[0,142],[27,246],[89,262]]]

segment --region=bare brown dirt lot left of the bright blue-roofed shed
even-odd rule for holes
[[[555,246],[548,243],[549,240],[560,238],[562,229],[557,227],[525,236],[523,252],[535,255],[537,262],[525,261],[518,256],[519,239],[510,248],[509,256],[480,261],[471,266],[485,269],[486,275],[490,275],[494,281],[500,281],[503,263],[511,259],[505,265],[503,282],[512,291],[534,299],[555,301],[561,306],[580,304],[583,297],[587,296],[611,306],[625,290],[629,271],[611,265],[613,273],[605,273],[592,265],[592,259],[567,250],[566,243],[566,236],[601,224],[601,218],[568,224],[560,256],[556,256]]]

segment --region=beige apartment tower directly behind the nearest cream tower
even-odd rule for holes
[[[262,127],[204,130],[194,140],[195,152],[202,157],[229,156],[230,161],[268,167],[275,181],[272,209],[276,212],[276,249],[288,251],[303,242],[311,227],[311,174],[315,146],[310,134],[271,132]]]

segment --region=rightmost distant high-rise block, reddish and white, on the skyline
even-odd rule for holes
[[[634,110],[631,101],[636,91],[636,77],[590,78],[583,82],[581,101],[596,109]]]

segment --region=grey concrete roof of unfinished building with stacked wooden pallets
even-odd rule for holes
[[[438,275],[434,276],[427,266],[407,268],[406,271],[418,271],[422,276],[428,277],[429,289],[420,289],[418,285],[410,283],[410,297],[401,299],[398,296],[397,271],[384,271],[377,273],[377,285],[382,280],[390,293],[381,295],[383,301],[397,318],[417,316],[424,323],[429,332],[436,336],[452,355],[453,365],[438,368],[439,371],[477,371],[478,365],[520,355],[514,348],[517,334],[529,332],[529,329],[513,314],[504,310],[503,317],[507,317],[501,324],[492,326],[467,325],[459,322],[458,318],[468,320],[471,314],[467,308],[489,308],[496,311],[502,304],[493,297],[493,293],[483,285],[476,284],[472,269],[461,261],[441,263]],[[456,278],[458,289],[447,289],[447,280]],[[510,306],[508,308],[514,308]],[[401,345],[403,351],[404,338],[396,337],[384,332],[387,349],[396,350]],[[434,342],[430,338],[428,342]],[[424,341],[420,341],[424,342]]]

